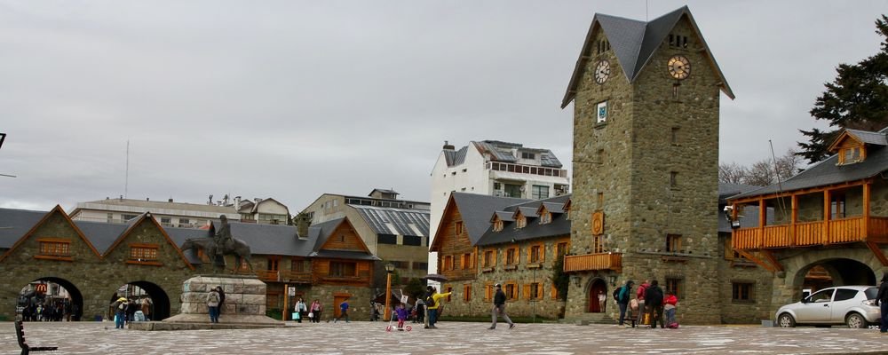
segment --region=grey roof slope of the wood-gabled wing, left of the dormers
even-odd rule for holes
[[[481,235],[490,228],[489,217],[493,212],[503,210],[506,206],[532,201],[478,193],[451,193],[450,196],[456,202],[460,216],[463,217],[463,225],[472,245],[478,243]]]

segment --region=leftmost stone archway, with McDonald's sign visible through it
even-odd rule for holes
[[[38,312],[39,309],[39,312]],[[83,317],[83,294],[73,283],[56,277],[28,282],[16,302],[16,317],[24,320],[70,320]]]

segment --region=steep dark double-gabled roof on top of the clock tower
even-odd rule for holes
[[[585,37],[583,50],[580,51],[579,59],[576,60],[574,74],[571,75],[570,83],[567,84],[567,92],[561,101],[561,108],[566,107],[574,99],[576,86],[582,77],[584,67],[586,67],[585,63],[594,54],[592,53],[593,32],[598,26],[607,36],[607,42],[610,43],[617,61],[620,62],[623,74],[632,83],[650,59],[654,57],[654,52],[660,47],[663,38],[669,35],[682,16],[687,16],[692,28],[694,28],[694,32],[700,38],[702,47],[705,50],[704,55],[709,59],[708,64],[715,70],[716,75],[720,79],[718,84],[721,86],[721,90],[725,92],[725,95],[733,99],[733,91],[728,86],[725,75],[722,74],[721,69],[718,67],[718,63],[716,63],[716,59],[712,56],[709,46],[703,40],[700,29],[697,28],[697,23],[694,21],[694,16],[691,15],[691,11],[687,6],[682,6],[678,10],[662,15],[650,22],[596,13],[592,18],[592,24]]]

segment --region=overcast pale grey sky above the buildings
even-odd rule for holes
[[[888,1],[0,1],[0,207],[70,211],[125,193],[202,203],[392,188],[430,200],[445,140],[551,149],[595,12],[687,4],[735,100],[721,162],[824,127],[839,63],[875,54]],[[129,141],[129,183],[127,175]]]

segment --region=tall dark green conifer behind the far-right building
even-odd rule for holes
[[[809,162],[829,156],[827,148],[841,130],[881,130],[888,126],[888,17],[876,20],[876,33],[883,37],[881,51],[855,65],[840,64],[836,80],[814,102],[811,115],[829,121],[835,130],[799,130],[809,138],[799,142],[798,155]]]

